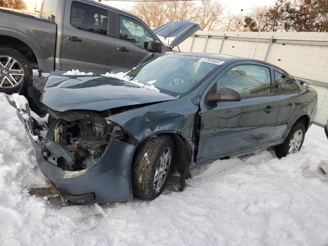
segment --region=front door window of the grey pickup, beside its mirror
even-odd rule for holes
[[[141,48],[147,48],[150,40],[155,41],[153,35],[140,22],[123,15],[119,16],[119,37]]]

